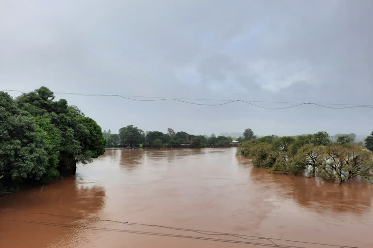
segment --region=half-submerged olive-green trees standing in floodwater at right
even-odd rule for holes
[[[335,182],[359,177],[373,182],[373,132],[365,146],[352,144],[353,135],[339,135],[336,142],[326,132],[297,136],[265,136],[237,146],[237,155],[250,156],[255,167],[270,172],[318,175]]]

